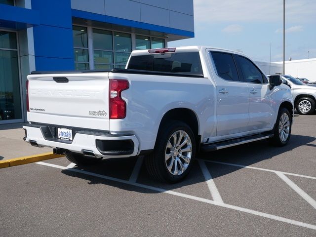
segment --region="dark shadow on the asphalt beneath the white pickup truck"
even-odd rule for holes
[[[315,137],[301,136],[301,135],[291,135],[290,142],[285,147],[272,147],[263,140],[253,143],[248,143],[236,147],[231,147],[210,153],[199,153],[197,154],[197,159],[206,160],[206,166],[210,170],[213,178],[225,176],[229,173],[235,172],[243,167],[229,166],[223,164],[215,164],[207,161],[219,161],[227,163],[237,163],[244,166],[254,165],[263,160],[269,160],[275,158],[278,155],[289,152],[300,146],[316,147],[314,144],[310,144],[315,141]],[[311,149],[311,148],[310,148]],[[102,160],[98,165],[91,165],[85,167],[75,167],[76,170],[82,170],[91,172],[97,175],[104,175],[111,178],[120,179],[123,181],[128,181],[137,158],[117,158],[117,159],[107,159]],[[268,161],[269,162],[269,161]],[[286,160],[284,160],[286,162]],[[85,179],[88,181],[87,184],[104,184],[117,187],[124,190],[129,190],[133,192],[141,193],[160,193],[157,190],[144,189],[136,187],[129,184],[124,184],[121,182],[116,182],[109,179],[104,179],[100,177],[91,176],[88,174],[82,174],[78,172],[73,172],[71,170],[63,170],[62,173]],[[138,184],[148,185],[154,188],[163,190],[173,190],[180,193],[185,193],[188,195],[210,198],[209,191],[207,189],[205,178],[200,170],[197,160],[192,167],[189,175],[177,184],[165,184],[153,180],[146,172],[145,165],[142,164],[137,181]],[[195,185],[194,188],[192,185]],[[178,191],[178,189],[181,189]]]

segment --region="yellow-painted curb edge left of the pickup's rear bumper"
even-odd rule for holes
[[[19,157],[19,158],[13,158],[13,159],[5,159],[0,160],[0,168],[6,168],[11,167],[15,165],[21,165],[21,164],[28,164],[32,162],[38,162],[45,159],[53,159],[53,158],[59,158],[63,157],[63,155],[56,155],[52,152],[28,156],[28,157]]]

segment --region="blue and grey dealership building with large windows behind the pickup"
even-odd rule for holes
[[[193,0],[0,0],[0,124],[26,120],[31,71],[124,68],[194,37]]]

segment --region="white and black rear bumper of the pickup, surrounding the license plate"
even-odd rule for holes
[[[123,158],[137,156],[139,141],[133,134],[111,134],[107,131],[84,130],[70,128],[73,140],[57,138],[58,125],[29,124],[23,125],[24,140],[33,146],[61,148],[80,154],[91,154],[102,158]]]

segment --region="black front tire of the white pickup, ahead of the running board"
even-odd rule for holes
[[[284,116],[285,118],[288,118],[289,124],[285,123],[285,122],[283,124],[282,116]],[[282,137],[282,132],[280,132],[279,128],[284,131],[283,137]],[[288,129],[288,133],[287,133],[288,136],[285,139],[285,135],[284,134],[286,133],[285,131],[287,129]],[[282,107],[282,108],[279,109],[278,114],[277,114],[276,124],[275,124],[275,128],[273,130],[274,136],[268,139],[270,145],[277,146],[277,147],[285,146],[288,143],[289,139],[290,139],[291,130],[292,130],[292,117],[291,117],[291,114],[286,108]]]

